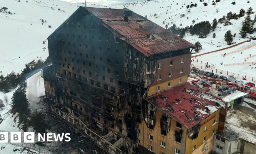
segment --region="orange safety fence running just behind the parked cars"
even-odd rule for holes
[[[224,74],[224,75],[231,75],[240,79],[245,78],[248,81],[256,81],[256,77],[251,77],[251,76],[247,76],[247,75],[243,75],[243,74],[238,74],[238,73],[233,73],[233,72],[229,72],[229,71],[224,71],[221,69],[217,69],[215,67],[209,67],[207,68],[206,66],[202,66],[202,65],[193,65],[191,64],[191,67],[196,67],[199,68],[201,70],[205,70],[205,71],[209,71],[209,72],[213,72],[213,73],[217,73],[217,74]]]

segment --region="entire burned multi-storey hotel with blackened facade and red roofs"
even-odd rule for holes
[[[225,110],[187,83],[193,47],[126,8],[79,7],[48,37],[46,97],[109,153],[205,151]]]

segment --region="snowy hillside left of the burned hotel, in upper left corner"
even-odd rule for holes
[[[2,7],[15,14],[0,12],[0,75],[21,72],[26,63],[47,57],[48,43],[43,41],[77,9],[58,0],[1,0]],[[42,25],[42,19],[47,23]]]

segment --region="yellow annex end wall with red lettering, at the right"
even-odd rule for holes
[[[195,140],[189,139],[188,136],[186,137],[186,154],[208,154],[212,150],[213,132],[218,130],[219,118],[220,109],[200,123],[201,127]]]

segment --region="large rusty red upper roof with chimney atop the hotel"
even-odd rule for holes
[[[192,48],[193,44],[171,33],[154,22],[132,13],[129,21],[124,21],[124,10],[83,7],[103,21],[103,26],[111,30],[145,56],[157,53]],[[153,39],[152,39],[153,36]],[[150,38],[149,38],[150,37]]]

